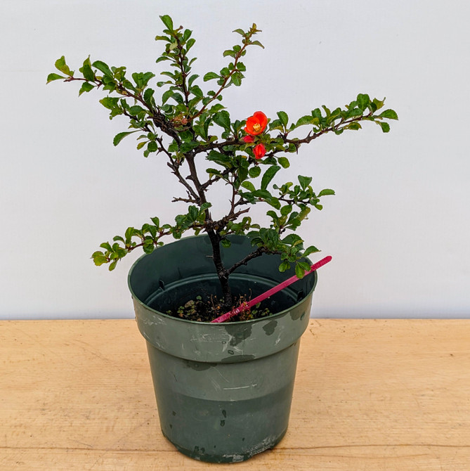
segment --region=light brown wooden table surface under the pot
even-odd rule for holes
[[[132,320],[0,321],[0,470],[470,470],[470,321],[311,320],[289,429],[209,465],[162,437]]]

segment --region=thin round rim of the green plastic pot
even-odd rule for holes
[[[196,238],[196,237],[201,237],[201,236],[190,236],[189,238]],[[178,240],[175,240],[172,243],[177,243],[177,242],[178,242]],[[158,248],[155,249],[155,250],[158,250]],[[133,292],[132,285],[131,285],[131,276],[132,276],[133,269],[138,265],[139,262],[141,262],[142,259],[144,259],[145,257],[148,257],[149,255],[151,255],[151,254],[142,254],[141,257],[138,257],[136,262],[134,262],[132,264],[131,269],[129,269],[129,273],[127,275],[127,286],[129,288],[129,291],[131,292],[132,299],[134,300],[134,302],[137,302],[142,307],[144,307],[148,311],[151,311],[154,314],[157,314],[158,316],[163,316],[164,318],[171,319],[172,321],[187,323],[188,325],[190,325],[190,324],[194,324],[194,325],[214,325],[214,327],[215,326],[227,327],[228,325],[247,325],[247,324],[251,324],[251,323],[257,323],[257,322],[260,322],[260,321],[273,321],[273,320],[275,320],[275,318],[278,318],[278,317],[282,316],[283,314],[287,314],[289,311],[292,311],[292,309],[299,306],[299,304],[302,304],[303,302],[305,302],[305,300],[308,299],[308,297],[313,294],[313,291],[315,290],[316,285],[318,283],[318,273],[316,271],[314,271],[313,273],[311,273],[311,275],[315,277],[315,279],[313,280],[312,288],[311,288],[311,290],[306,292],[303,299],[296,302],[295,304],[292,304],[292,306],[289,307],[288,309],[284,309],[283,311],[277,312],[277,313],[272,314],[271,316],[268,316],[268,317],[260,317],[260,318],[257,318],[257,319],[249,319],[247,321],[221,322],[221,323],[211,323],[211,322],[207,322],[207,321],[189,321],[188,319],[181,319],[181,318],[178,318],[178,317],[169,316],[168,314],[164,314],[163,312],[157,311],[156,309],[153,309],[152,307],[149,307],[147,304],[145,304],[145,302],[141,301],[141,299],[139,299],[136,296],[136,294]],[[311,260],[308,259],[308,257],[305,257],[305,258],[308,261],[308,263],[310,263],[310,264],[312,263]],[[237,273],[234,273],[234,274],[236,275]],[[242,276],[242,273],[239,273],[239,274],[240,274],[240,276]],[[265,278],[265,279],[268,279],[268,278]]]

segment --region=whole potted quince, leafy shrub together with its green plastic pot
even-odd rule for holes
[[[213,84],[207,88],[192,73],[192,32],[175,27],[168,15],[160,18],[164,30],[155,39],[164,50],[157,63],[170,66],[162,81],[152,72],[129,77],[126,67],[90,58],[75,73],[63,56],[56,61],[60,74],[47,82],[78,82],[79,95],[103,91],[100,103],[110,118],[129,122],[115,146],[135,134],[143,155],[159,159],[180,184],[173,201],[186,204],[184,214],[127,228],[101,244],[93,261],[113,270],[126,254],[143,249],[129,288],[148,344],[162,432],[192,458],[235,462],[275,446],[287,429],[299,340],[316,283],[316,273],[304,276],[311,270],[307,257],[318,252],[296,229],[334,194],[314,191],[311,176],[274,182],[289,167],[287,156],[322,134],[357,130],[363,122],[388,132],[387,120],[398,117],[365,93],[345,108],[323,106],[296,120],[283,111],[274,118],[261,111],[231,117],[222,93],[242,84],[248,49],[263,47],[254,39],[256,25],[235,30],[240,41],[223,51],[226,67],[202,77]],[[228,207],[216,217],[212,203],[227,188]],[[252,219],[253,205],[266,207],[266,218]],[[192,237],[182,238],[187,234]],[[168,238],[177,241],[164,245]],[[297,283],[244,309],[294,274]],[[213,322],[234,308],[230,322]]]

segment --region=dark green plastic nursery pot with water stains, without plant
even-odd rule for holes
[[[231,238],[226,266],[252,252]],[[254,321],[202,323],[163,314],[197,295],[218,293],[207,236],[178,240],[138,259],[129,272],[136,321],[145,340],[162,432],[176,449],[211,463],[247,460],[284,436],[300,337],[316,273],[268,299],[273,314]],[[255,297],[293,271],[263,255],[230,277],[233,292]]]

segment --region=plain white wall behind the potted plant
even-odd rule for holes
[[[332,254],[320,271],[314,316],[466,317],[470,314],[470,108],[467,2],[435,0],[2,0],[0,4],[0,318],[131,317],[130,255],[109,273],[98,245],[148,217],[174,217],[174,181],[98,93],[46,86],[65,54],[129,71],[162,70],[158,15],[195,32],[196,69],[224,64],[232,30],[252,22],[233,117],[285,110],[300,117],[357,93],[400,117],[382,134],[323,136],[292,157],[292,178],[334,188],[301,235]],[[320,257],[318,257],[320,258]]]

